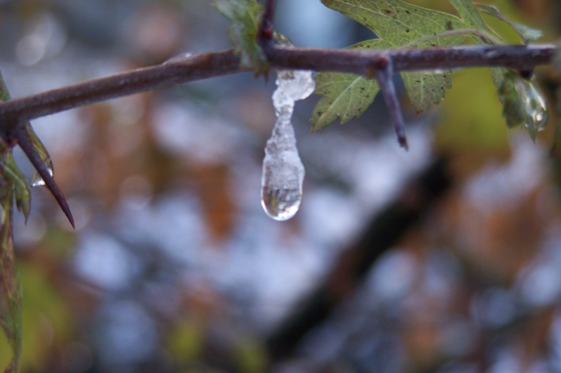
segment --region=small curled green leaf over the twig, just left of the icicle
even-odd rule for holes
[[[262,15],[257,0],[214,0],[212,5],[232,22],[228,34],[241,56],[241,66],[252,69],[256,75],[266,73],[269,63],[257,44],[257,30]]]

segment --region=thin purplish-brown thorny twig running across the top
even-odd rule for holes
[[[309,48],[266,48],[271,67],[340,71],[372,75],[380,59],[389,59],[393,70],[459,69],[475,66],[503,66],[533,69],[550,64],[555,45],[464,46],[454,48],[393,50],[332,50]],[[58,113],[98,101],[123,97],[148,90],[171,87],[194,80],[224,76],[244,71],[233,50],[201,53],[172,59],[144,69],[120,73],[107,78],[88,80],[55,90],[0,103],[0,118],[7,125]]]

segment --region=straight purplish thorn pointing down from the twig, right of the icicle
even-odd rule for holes
[[[393,122],[393,128],[396,130],[399,144],[405,148],[405,150],[409,150],[409,146],[407,145],[407,136],[405,136],[405,119],[403,119],[396,85],[393,84],[392,80],[393,66],[391,64],[391,60],[387,59],[385,64],[379,64],[378,62],[377,66],[373,67],[378,71],[376,74],[376,80],[380,86],[381,93],[384,95],[386,106],[388,106],[388,111],[390,113],[391,121]]]

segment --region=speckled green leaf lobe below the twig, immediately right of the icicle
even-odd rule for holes
[[[341,123],[358,117],[380,90],[375,80],[351,73],[318,73],[316,94],[321,94],[311,116],[312,131],[327,127],[337,117]]]

